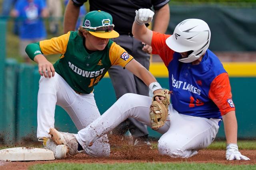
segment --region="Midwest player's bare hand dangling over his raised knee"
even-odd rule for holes
[[[43,55],[36,55],[34,58],[34,61],[38,63],[38,72],[41,76],[44,76],[45,78],[52,78],[55,74],[55,69]]]

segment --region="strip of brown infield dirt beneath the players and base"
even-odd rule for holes
[[[250,161],[227,161],[225,160],[225,150],[199,150],[198,154],[191,158],[171,158],[162,156],[157,149],[148,149],[144,147],[114,148],[108,158],[92,158],[86,154],[77,154],[74,157],[68,157],[62,160],[51,161],[26,161],[26,162],[0,162],[0,169],[25,170],[28,166],[34,164],[46,163],[129,163],[129,162],[195,162],[195,163],[220,163],[220,164],[256,164],[256,150],[240,150],[248,156]]]

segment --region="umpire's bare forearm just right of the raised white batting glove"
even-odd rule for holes
[[[159,10],[155,11],[154,15],[154,27],[153,31],[159,32],[159,33],[165,33],[170,21],[170,8],[169,4],[166,4]]]

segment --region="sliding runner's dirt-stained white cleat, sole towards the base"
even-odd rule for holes
[[[54,128],[50,129],[49,134],[57,145],[66,145],[68,147],[68,154],[70,156],[80,153],[80,151],[77,150],[78,141],[76,140],[75,134],[59,132]]]

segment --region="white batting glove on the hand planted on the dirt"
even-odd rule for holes
[[[238,146],[234,143],[228,144],[227,150],[226,150],[226,159],[227,160],[250,160],[249,158],[242,155],[238,151]]]

